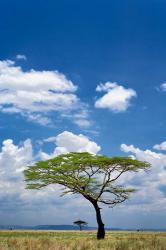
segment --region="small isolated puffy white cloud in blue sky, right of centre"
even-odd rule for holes
[[[136,91],[118,85],[116,82],[106,82],[97,86],[96,91],[107,92],[95,102],[96,108],[108,108],[113,112],[124,112],[130,106],[132,97],[136,97]]]

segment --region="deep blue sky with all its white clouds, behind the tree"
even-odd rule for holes
[[[0,1],[2,224],[72,223],[84,210],[94,225],[80,197],[61,199],[50,187],[34,201],[20,184],[23,165],[90,148],[153,165],[122,180],[140,191],[103,209],[105,223],[165,226],[165,26],[163,0]]]

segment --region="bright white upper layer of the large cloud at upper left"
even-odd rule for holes
[[[58,71],[30,71],[24,72],[14,61],[0,61],[1,89],[13,91],[55,91],[64,93],[75,92],[77,87]],[[37,90],[36,90],[37,88]]]

